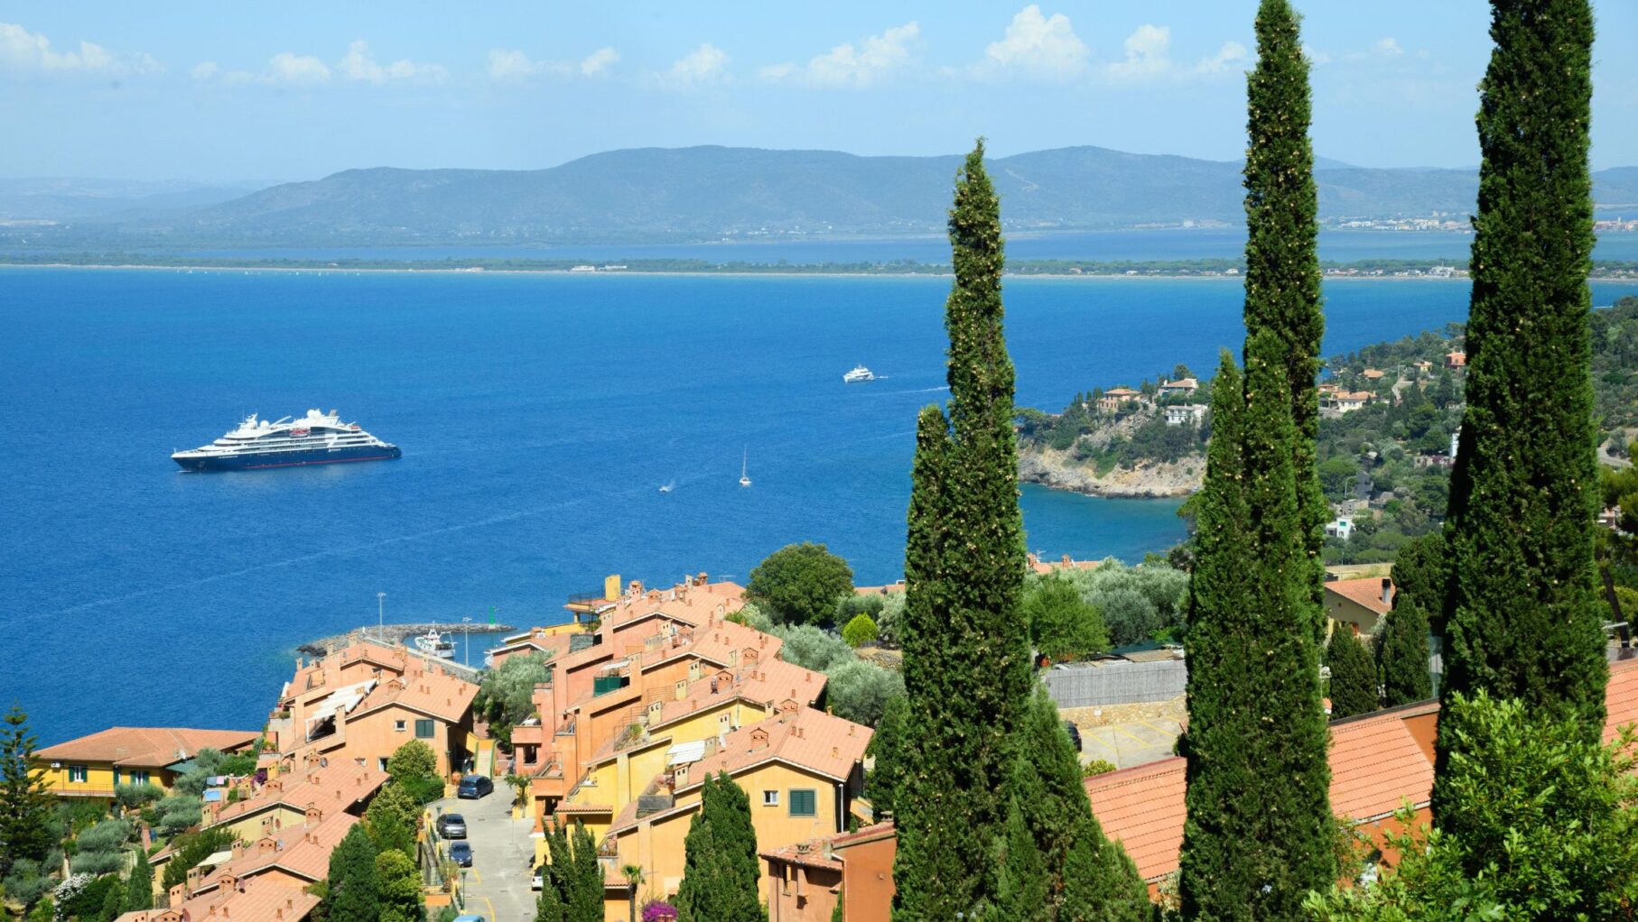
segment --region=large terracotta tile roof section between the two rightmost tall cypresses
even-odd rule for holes
[[[1430,701],[1332,724],[1332,812],[1363,822],[1397,811],[1404,799],[1425,806],[1433,763],[1404,719],[1437,711]]]

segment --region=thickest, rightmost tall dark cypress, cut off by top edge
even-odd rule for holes
[[[1597,742],[1609,663],[1592,558],[1592,10],[1587,0],[1492,0],[1491,10],[1440,693],[1517,698],[1579,721]],[[1458,745],[1441,727],[1440,768]],[[1433,819],[1455,830],[1446,798],[1435,783]]]

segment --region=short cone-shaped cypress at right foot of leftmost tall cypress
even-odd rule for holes
[[[1147,920],[1148,889],[1093,817],[1075,747],[1045,689],[1030,699],[1017,737],[998,861],[998,915],[1020,922]]]

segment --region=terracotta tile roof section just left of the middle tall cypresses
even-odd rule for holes
[[[1086,796],[1104,835],[1120,840],[1145,881],[1178,870],[1184,766],[1184,758],[1171,757],[1086,780]]]

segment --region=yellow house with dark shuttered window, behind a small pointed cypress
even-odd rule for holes
[[[844,832],[863,786],[870,735],[868,727],[852,721],[796,707],[691,743],[699,748],[698,758],[678,760],[676,755],[688,755],[686,748],[672,747],[672,765],[614,817],[600,852],[604,865],[642,866],[649,883],[639,899],[675,894],[683,879],[683,838],[699,809],[701,786],[719,771],[727,771],[749,796],[760,850]],[[614,902],[609,896],[606,906]]]

